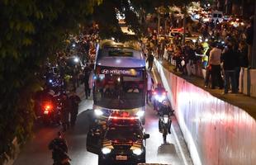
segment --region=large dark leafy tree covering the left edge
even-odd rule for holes
[[[0,164],[30,137],[36,72],[102,0],[0,1]]]

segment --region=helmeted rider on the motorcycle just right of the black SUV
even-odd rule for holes
[[[168,101],[162,102],[162,106],[160,106],[160,109],[159,109],[159,115],[160,117],[163,117],[164,115],[168,115],[168,133],[171,134],[172,120],[170,119],[170,116],[173,115],[173,110],[171,106],[169,106]],[[162,131],[160,117],[159,117],[159,132]]]

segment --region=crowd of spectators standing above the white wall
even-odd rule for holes
[[[181,35],[163,36],[158,35],[157,30],[149,28],[144,46],[149,70],[154,58],[166,59],[168,64],[174,66],[174,72],[205,78],[205,87],[225,88],[224,94],[230,89],[237,93],[240,70],[250,65],[253,21],[254,18],[250,18],[243,26],[214,21],[189,24],[186,33],[197,34],[198,38],[186,39],[185,45],[183,32]]]

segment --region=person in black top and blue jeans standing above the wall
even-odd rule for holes
[[[233,93],[237,92],[236,82],[235,82],[235,65],[238,61],[238,56],[235,55],[235,51],[231,44],[228,44],[228,49],[222,54],[221,59],[223,60],[224,68],[224,94],[228,93],[231,80],[231,89]]]

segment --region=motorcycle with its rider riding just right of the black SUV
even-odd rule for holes
[[[163,101],[159,109],[159,132],[163,134],[164,143],[167,135],[171,134],[171,115],[173,115],[172,108],[168,105],[168,101]]]

